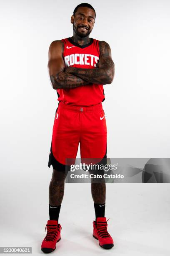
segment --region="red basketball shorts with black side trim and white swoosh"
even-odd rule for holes
[[[59,103],[52,129],[48,167],[62,169],[75,159],[80,143],[81,159],[103,159],[107,153],[107,127],[102,104],[79,107]]]

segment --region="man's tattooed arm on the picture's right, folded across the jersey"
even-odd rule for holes
[[[67,67],[65,72],[74,74],[94,84],[111,84],[115,74],[115,64],[112,61],[110,46],[105,41],[99,42],[100,59],[95,69]]]

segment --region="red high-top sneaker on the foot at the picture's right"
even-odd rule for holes
[[[107,232],[107,221],[105,217],[97,218],[93,221],[93,237],[99,241],[99,245],[104,249],[112,248],[113,239]]]

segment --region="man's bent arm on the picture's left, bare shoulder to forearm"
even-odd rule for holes
[[[64,43],[62,41],[53,41],[50,44],[48,52],[48,70],[52,88],[55,90],[72,89],[89,84],[89,82],[80,77],[64,72],[65,63],[62,58],[63,47]]]

